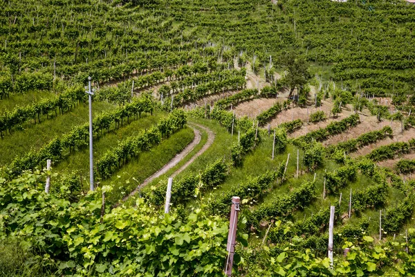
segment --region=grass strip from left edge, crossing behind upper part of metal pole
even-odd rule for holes
[[[93,116],[114,107],[107,102],[94,102]],[[80,105],[62,116],[44,119],[38,124],[28,124],[26,129],[16,130],[11,135],[7,134],[4,139],[0,139],[0,166],[5,166],[15,157],[23,156],[30,150],[39,150],[55,136],[71,131],[76,125],[87,123],[88,118],[88,106]]]

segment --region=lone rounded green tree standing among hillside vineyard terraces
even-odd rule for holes
[[[293,52],[283,54],[280,57],[280,64],[287,71],[285,82],[290,87],[290,94],[288,95],[288,98],[290,98],[293,96],[295,87],[302,88],[311,78],[311,74],[308,72],[308,64],[304,57]]]

